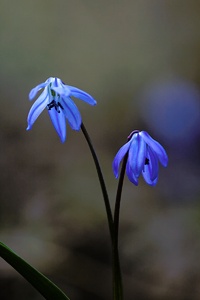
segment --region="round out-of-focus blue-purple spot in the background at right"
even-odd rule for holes
[[[156,82],[146,88],[141,115],[166,145],[190,152],[200,134],[200,89],[177,78]]]

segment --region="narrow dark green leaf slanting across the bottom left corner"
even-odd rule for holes
[[[69,300],[52,281],[0,242],[0,256],[47,300]]]

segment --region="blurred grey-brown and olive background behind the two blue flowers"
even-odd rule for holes
[[[26,131],[28,93],[50,76],[75,100],[114,205],[112,160],[134,129],[169,155],[156,187],[125,179],[120,255],[126,300],[200,299],[200,2],[2,0],[0,240],[70,299],[111,299],[111,248],[81,132],[61,144],[46,111]],[[0,298],[43,299],[3,260]]]

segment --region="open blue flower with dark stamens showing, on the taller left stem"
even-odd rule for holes
[[[72,101],[71,96],[79,98],[90,105],[96,105],[96,101],[86,92],[74,86],[64,84],[57,77],[50,77],[45,82],[33,88],[29,93],[29,99],[32,100],[38,91],[43,88],[43,92],[29,111],[27,118],[28,127],[26,130],[32,128],[38,116],[47,108],[53,126],[63,143],[66,139],[66,119],[74,130],[79,130],[82,122],[80,112]]]

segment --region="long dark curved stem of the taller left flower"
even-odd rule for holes
[[[81,124],[81,130],[85,136],[85,139],[88,143],[88,146],[90,148],[97,174],[99,177],[99,182],[101,185],[101,190],[103,194],[103,199],[105,203],[105,208],[106,208],[106,215],[108,219],[108,226],[109,226],[109,232],[110,232],[110,238],[111,238],[111,244],[112,244],[112,266],[113,266],[113,299],[114,300],[122,300],[123,299],[123,288],[122,288],[122,279],[121,279],[121,269],[120,269],[120,261],[119,261],[119,253],[118,253],[118,239],[116,239],[116,234],[115,234],[115,226],[114,226],[114,221],[113,221],[113,216],[112,216],[112,211],[110,207],[110,201],[104,181],[104,177],[101,171],[101,167],[98,161],[98,157],[96,155],[96,152],[94,150],[94,147],[92,145],[91,139],[88,135],[88,132],[83,125]]]

